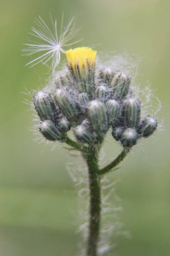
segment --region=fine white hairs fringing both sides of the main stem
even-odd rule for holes
[[[76,225],[79,225],[77,232],[81,234],[79,238],[79,254],[85,256],[83,245],[87,241],[89,228],[89,178],[87,167],[79,168],[79,162],[67,164],[67,170],[71,179],[75,183],[75,188],[79,195],[79,218]],[[112,244],[111,238],[114,236],[127,236],[130,234],[125,230],[124,224],[120,221],[119,213],[122,212],[122,201],[116,194],[116,185],[119,180],[110,183],[110,179],[101,178],[101,234],[99,238],[98,255],[113,255],[116,243]],[[113,223],[113,224],[112,224]]]

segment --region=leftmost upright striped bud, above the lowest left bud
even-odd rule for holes
[[[53,118],[56,114],[56,107],[48,90],[42,90],[34,95],[34,106],[42,121]]]

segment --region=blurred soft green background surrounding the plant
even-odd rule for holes
[[[29,69],[22,57],[30,28],[49,11],[67,22],[73,15],[81,27],[80,45],[98,52],[128,53],[140,59],[137,81],[151,88],[162,103],[157,115],[163,131],[141,140],[110,182],[116,185],[124,212],[121,220],[131,238],[117,238],[116,255],[170,255],[170,1],[169,0],[0,0],[1,152],[0,255],[75,256],[77,192],[66,163],[77,158],[58,146],[33,141],[32,112],[23,103],[45,84],[46,68]],[[120,147],[105,143],[109,162]],[[81,162],[81,161],[80,161]]]

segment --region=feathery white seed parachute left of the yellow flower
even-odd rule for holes
[[[63,28],[63,15],[62,22],[60,26],[60,32],[58,33],[58,25],[56,20],[52,20],[50,15],[50,22],[52,28],[42,20],[40,16],[36,19],[37,28],[32,28],[30,33],[34,38],[38,38],[38,42],[25,44],[27,49],[24,49],[24,55],[32,56],[34,59],[27,63],[30,67],[38,63],[43,63],[46,65],[48,61],[52,60],[52,71],[54,73],[56,67],[60,63],[60,53],[65,53],[65,47],[76,44],[80,40],[72,42],[72,39],[79,32],[79,29],[75,29],[75,18],[73,17],[71,21]]]

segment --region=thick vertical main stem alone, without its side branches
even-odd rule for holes
[[[97,243],[99,240],[99,224],[101,211],[101,188],[98,167],[97,149],[89,149],[85,156],[89,170],[89,236],[87,240],[87,256],[97,256]]]

